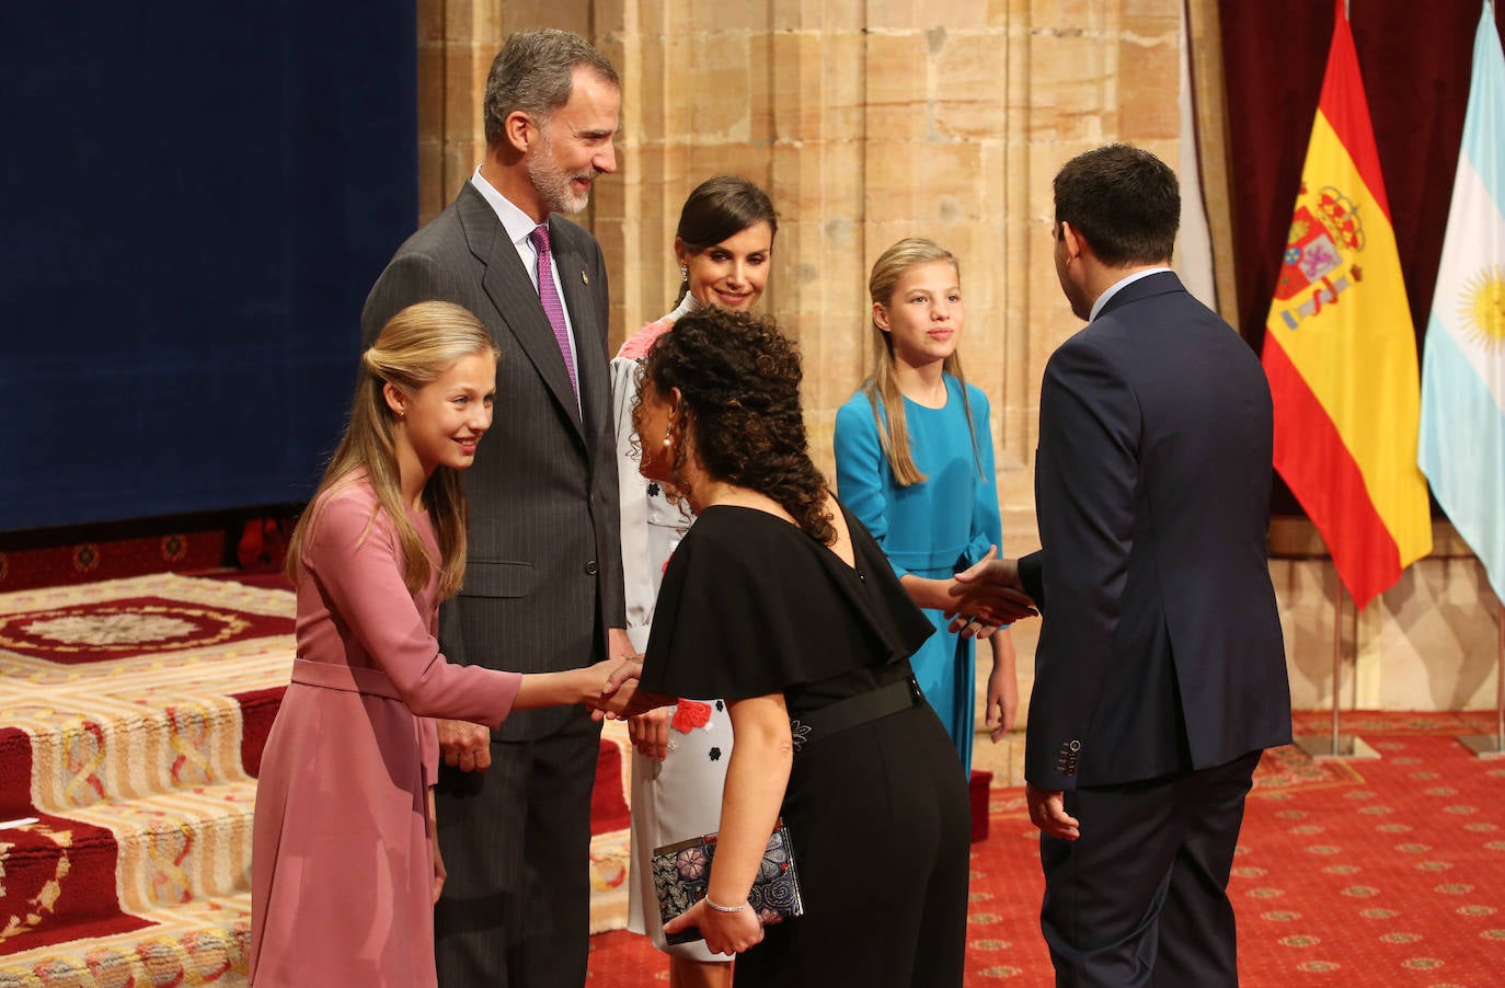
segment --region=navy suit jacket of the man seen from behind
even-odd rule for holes
[[[1291,738],[1266,551],[1270,389],[1172,273],[1120,289],[1040,392],[1043,627],[1025,777],[1044,789],[1222,765]]]

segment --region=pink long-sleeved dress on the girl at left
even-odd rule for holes
[[[408,592],[364,473],[310,511],[298,655],[256,792],[251,983],[433,985],[429,718],[495,729],[521,676],[444,660],[438,569]],[[438,559],[427,515],[408,517]]]

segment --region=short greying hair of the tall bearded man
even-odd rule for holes
[[[494,146],[503,139],[509,113],[522,110],[542,124],[569,102],[576,65],[588,66],[604,81],[622,89],[611,59],[591,48],[579,35],[557,27],[510,35],[486,77],[482,110],[486,145]]]

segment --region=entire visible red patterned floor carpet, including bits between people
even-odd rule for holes
[[[1248,803],[1230,895],[1243,985],[1505,983],[1505,761],[1455,733],[1491,714],[1350,714],[1380,761],[1270,752]],[[1297,715],[1321,733],[1326,714]],[[1037,910],[1037,831],[1020,789],[995,789],[992,836],[972,845],[968,985],[1052,985]],[[667,983],[643,937],[591,940],[594,988]],[[835,946],[834,949],[841,949]]]

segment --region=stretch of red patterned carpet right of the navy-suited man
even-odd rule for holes
[[[1505,982],[1505,762],[1454,738],[1493,720],[1347,717],[1380,761],[1251,801],[1233,886],[1248,983]]]

